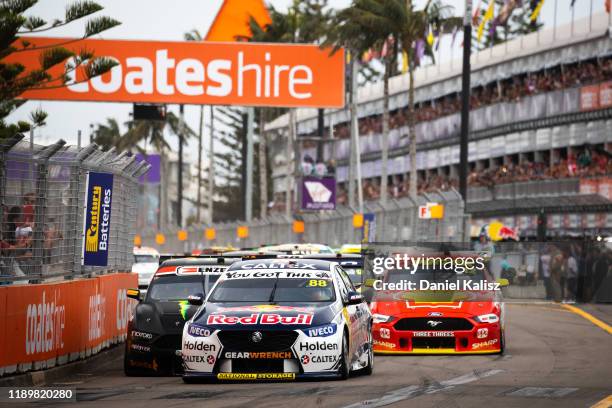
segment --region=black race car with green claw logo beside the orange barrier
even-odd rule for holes
[[[204,298],[221,273],[239,258],[178,258],[164,261],[128,323],[124,372],[176,374],[182,371],[181,333],[197,307],[189,296]],[[141,300],[139,289],[130,298]]]

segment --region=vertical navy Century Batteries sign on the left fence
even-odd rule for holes
[[[113,175],[87,173],[87,203],[83,236],[83,265],[106,266],[110,238]]]

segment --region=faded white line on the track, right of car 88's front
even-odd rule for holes
[[[457,385],[468,384],[481,378],[490,377],[495,374],[504,372],[504,370],[486,370],[486,371],[475,371],[472,373],[464,374],[459,377],[451,378],[450,380],[440,381],[439,384],[432,384],[429,386],[422,385],[410,385],[408,387],[399,388],[394,391],[389,391],[380,398],[365,400],[356,402],[351,405],[347,405],[344,408],[377,408],[384,407],[390,404],[394,404],[398,401],[407,400],[413,397],[417,397],[422,394],[433,394],[438,391],[446,390]]]

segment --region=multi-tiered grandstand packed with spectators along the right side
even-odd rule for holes
[[[390,83],[388,196],[408,194],[407,75]],[[612,233],[612,39],[608,14],[541,30],[472,55],[466,211],[474,230],[491,219],[533,236],[544,210],[552,236]],[[418,190],[458,186],[459,61],[415,73]],[[380,197],[382,85],[359,90],[364,198]],[[297,112],[297,133],[317,134],[317,113]],[[275,207],[284,203],[288,115],[267,124]],[[348,109],[326,111],[324,160],[346,204]],[[312,142],[310,142],[312,143]],[[316,156],[303,142],[302,157]],[[290,167],[291,168],[291,167]]]

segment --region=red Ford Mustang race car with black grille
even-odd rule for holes
[[[504,307],[499,287],[504,284],[503,280],[491,282],[482,273],[386,272],[368,285],[374,289],[370,305],[374,352],[503,353]]]

